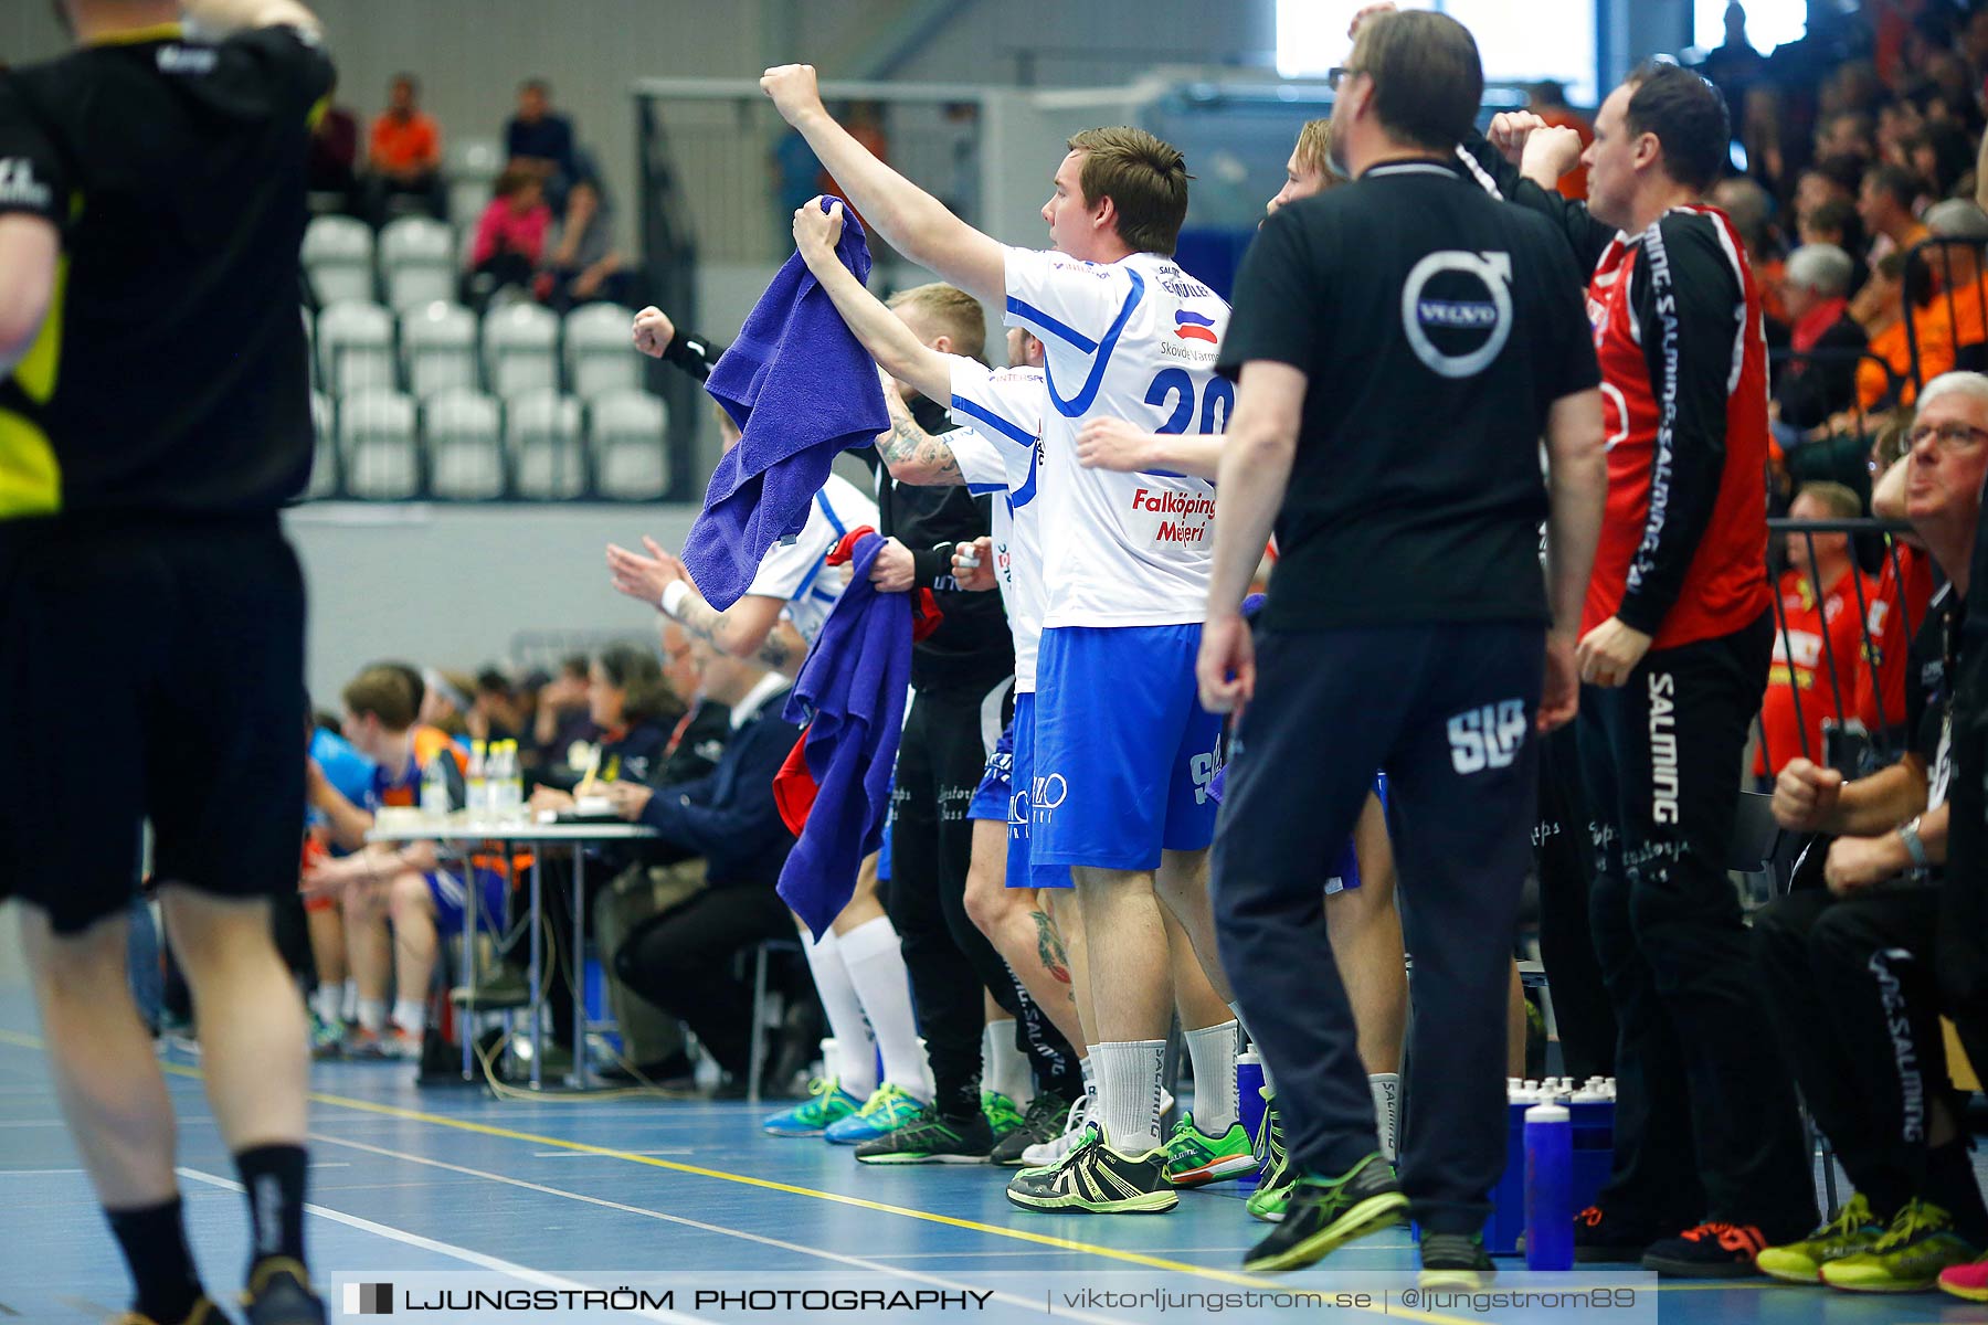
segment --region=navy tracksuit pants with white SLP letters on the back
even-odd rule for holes
[[[1413,1021],[1402,1190],[1473,1234],[1505,1172],[1505,991],[1531,860],[1541,626],[1260,630],[1215,828],[1223,969],[1276,1079],[1292,1160],[1378,1150],[1318,880],[1388,773]]]

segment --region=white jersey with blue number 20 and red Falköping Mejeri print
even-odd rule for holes
[[[1077,262],[1008,250],[1008,326],[1048,352],[1042,427],[1044,626],[1187,626],[1207,614],[1215,485],[1077,465],[1087,419],[1221,433],[1235,383],[1215,375],[1229,304],[1173,258]]]

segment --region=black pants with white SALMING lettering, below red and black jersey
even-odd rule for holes
[[[1618,689],[1580,693],[1600,824],[1594,948],[1618,1027],[1600,1206],[1652,1236],[1714,1218],[1775,1244],[1815,1226],[1795,1091],[1726,874],[1771,642],[1761,614],[1732,636],[1648,654]]]

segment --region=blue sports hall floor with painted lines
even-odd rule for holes
[[[167,1055],[165,1063],[179,1110],[189,1230],[209,1289],[233,1301],[248,1236],[243,1200],[197,1061]],[[1308,1271],[1242,1275],[1241,1253],[1264,1226],[1242,1212],[1233,1184],[1187,1192],[1165,1216],[1046,1216],[1012,1208],[1002,1176],[986,1168],[861,1168],[847,1150],[819,1140],[765,1136],[755,1126],[763,1108],[744,1103],[495,1101],[483,1091],[421,1091],[410,1067],[370,1063],[320,1065],[312,1089],[306,1238],[334,1321],[360,1321],[346,1307],[370,1301],[344,1295],[348,1283],[398,1277],[408,1287],[410,1275],[429,1273],[449,1275],[431,1281],[443,1289],[565,1291],[557,1301],[567,1305],[582,1301],[577,1293],[588,1287],[650,1293],[638,1311],[563,1315],[549,1313],[541,1297],[531,1313],[429,1309],[417,1313],[425,1321],[1054,1315],[1129,1323],[1217,1311],[1252,1321],[1988,1319],[1988,1309],[1940,1293],[1873,1299],[1751,1281],[1666,1283],[1654,1311],[1648,1283],[1636,1283],[1636,1307],[1626,1309],[1571,1311],[1555,1299],[1431,1305],[1404,1299],[1413,1285],[1404,1273],[1413,1265],[1406,1228],[1358,1242]],[[1535,1287],[1543,1281],[1555,1287],[1545,1277],[1525,1279]],[[417,1289],[421,1281],[412,1283]],[[1501,1273],[1499,1283],[1519,1279]],[[664,1287],[674,1287],[666,1307]],[[761,1295],[700,1303],[700,1287]],[[831,1287],[871,1289],[873,1297],[797,1295]],[[402,1319],[415,1315],[410,1303],[465,1301],[415,1289],[402,1299]],[[771,1289],[785,1295],[767,1295]],[[1244,1297],[1252,1291],[1316,1291],[1324,1305]],[[841,1309],[815,1311],[809,1301]],[[22,989],[0,987],[0,1325],[103,1321],[123,1303],[123,1267],[62,1126],[32,1005]]]

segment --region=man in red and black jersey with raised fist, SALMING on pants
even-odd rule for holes
[[[1586,151],[1525,113],[1469,143],[1590,270],[1608,403],[1578,737],[1620,1095],[1614,1170],[1574,1250],[1684,1277],[1751,1275],[1763,1246],[1815,1222],[1795,1093],[1726,878],[1773,648],[1761,296],[1740,232],[1700,201],[1726,171],[1728,139],[1712,83],[1648,64],[1602,103]],[[1576,155],[1586,205],[1545,187]]]

